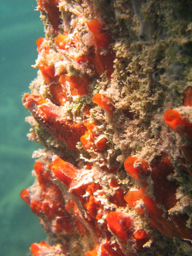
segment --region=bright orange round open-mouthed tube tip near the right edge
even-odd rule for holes
[[[185,121],[182,120],[180,113],[173,109],[168,109],[164,114],[165,123],[168,124],[174,130],[179,125],[185,125]]]

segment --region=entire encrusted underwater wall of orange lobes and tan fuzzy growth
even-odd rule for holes
[[[33,256],[192,255],[190,1],[38,0]]]

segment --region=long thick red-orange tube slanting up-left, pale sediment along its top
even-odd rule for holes
[[[39,105],[40,99],[40,96],[26,94],[23,104],[56,140],[65,142],[70,149],[78,151],[76,143],[86,131],[84,124],[67,120],[63,109],[50,100]]]

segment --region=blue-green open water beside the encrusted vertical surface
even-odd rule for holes
[[[0,16],[0,255],[27,255],[33,242],[45,239],[36,217],[20,190],[33,183],[33,150],[26,137],[28,111],[21,97],[36,77],[36,39],[44,36],[36,0],[1,2]]]

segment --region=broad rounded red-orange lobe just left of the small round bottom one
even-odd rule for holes
[[[106,217],[109,229],[125,242],[130,236],[131,220],[122,212],[109,212]]]

